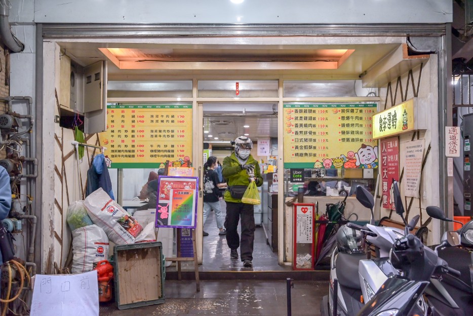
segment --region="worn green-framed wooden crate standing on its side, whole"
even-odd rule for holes
[[[119,309],[164,303],[161,242],[115,246],[115,300]]]

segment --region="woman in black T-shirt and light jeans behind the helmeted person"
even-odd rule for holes
[[[218,188],[226,185],[218,181],[218,174],[215,171],[217,165],[218,160],[215,156],[210,156],[204,164],[204,219],[202,222],[203,226],[205,226],[210,210],[213,209],[217,219],[217,227],[220,230],[218,234],[224,235],[226,230],[223,228],[223,217],[219,201],[220,191]],[[209,233],[204,230],[203,235],[207,236]]]

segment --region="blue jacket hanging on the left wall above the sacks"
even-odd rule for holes
[[[108,193],[110,199],[115,200],[115,197],[113,196],[112,182],[110,181],[110,175],[108,174],[108,168],[103,153],[94,157],[92,165],[87,172],[86,196],[89,196],[100,187]]]

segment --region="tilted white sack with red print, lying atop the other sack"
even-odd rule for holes
[[[134,244],[143,227],[102,189],[87,196],[84,205],[90,218],[116,245]]]

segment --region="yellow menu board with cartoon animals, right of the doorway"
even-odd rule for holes
[[[285,104],[284,168],[377,168],[374,103]]]

